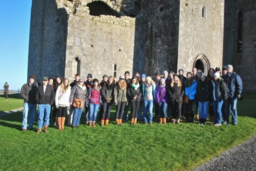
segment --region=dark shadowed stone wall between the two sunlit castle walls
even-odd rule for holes
[[[136,17],[134,66],[140,73],[176,70],[179,1],[144,0]],[[136,68],[134,68],[136,69]]]

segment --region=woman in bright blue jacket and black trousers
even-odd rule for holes
[[[185,95],[189,96],[189,101],[186,104],[186,119],[187,123],[194,122],[193,102],[197,93],[197,81],[192,77],[192,73],[187,73],[187,80],[184,82]]]

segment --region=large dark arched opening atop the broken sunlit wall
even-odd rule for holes
[[[89,7],[90,15],[92,16],[111,15],[121,17],[121,15],[117,11],[115,11],[102,1],[94,1],[88,3],[86,6]]]

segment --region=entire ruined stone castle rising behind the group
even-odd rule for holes
[[[250,14],[248,8],[237,13],[241,5],[251,7]],[[244,55],[251,56],[256,72],[255,24],[237,36],[241,23],[235,21],[242,15],[243,28],[245,17],[255,23],[255,9],[253,0],[33,0],[28,75],[73,80],[76,73],[84,78],[92,73],[101,79],[126,70],[130,77],[194,66],[206,73],[232,64],[244,81]],[[236,52],[235,41],[245,36],[250,42],[240,41],[242,50]],[[245,53],[245,45],[251,51]]]

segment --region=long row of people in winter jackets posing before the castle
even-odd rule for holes
[[[186,76],[183,72],[183,69],[179,69],[178,73],[164,71],[163,75],[153,74],[151,77],[135,73],[129,78],[130,73],[126,71],[117,82],[108,75],[103,75],[99,82],[92,79],[92,74],[87,75],[87,80],[76,74],[71,84],[68,78],[43,77],[42,85],[36,84],[36,76],[32,74],[28,83],[21,88],[24,98],[22,130],[27,129],[28,115],[28,129],[33,129],[37,104],[37,133],[42,132],[43,126],[43,131],[48,131],[51,115],[59,130],[64,130],[66,114],[69,113],[67,125],[76,128],[83,110],[89,127],[96,127],[98,113],[100,125],[109,125],[113,104],[116,105],[115,123],[118,125],[127,122],[128,118],[130,124],[137,124],[139,120],[152,124],[154,106],[156,122],[166,124],[166,119],[177,124],[181,119],[194,122],[194,102],[199,125],[206,123],[208,113],[214,126],[227,124],[230,110],[232,124],[237,125],[236,104],[237,99],[241,98],[242,80],[231,65],[222,70],[219,67],[210,68],[207,75],[197,68],[192,68],[192,72],[187,72]]]

